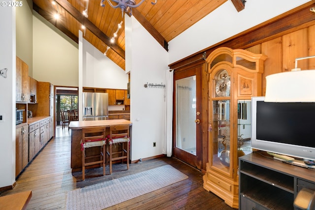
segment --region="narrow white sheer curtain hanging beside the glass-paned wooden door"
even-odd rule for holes
[[[164,107],[164,140],[162,153],[172,156],[172,124],[173,124],[173,73],[165,72],[165,107]]]

